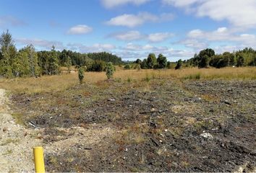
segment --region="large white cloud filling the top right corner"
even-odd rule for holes
[[[234,0],[162,0],[164,4],[184,8],[198,17],[210,17],[216,21],[227,20],[234,27],[256,27],[256,1]],[[189,10],[188,10],[189,9]]]

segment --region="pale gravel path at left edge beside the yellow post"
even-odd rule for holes
[[[33,146],[41,140],[36,130],[15,123],[4,89],[0,89],[0,172],[33,172]]]

